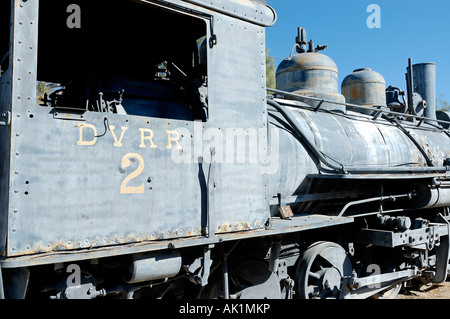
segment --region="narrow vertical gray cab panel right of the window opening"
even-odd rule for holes
[[[265,96],[265,30],[222,14],[214,15],[217,45],[208,56],[214,72],[209,73],[213,109],[206,128],[218,129],[226,137],[226,153],[242,152],[237,139],[244,136],[244,162],[237,157],[222,158],[217,164],[218,187],[214,195],[217,231],[262,227],[269,216],[265,199],[266,174],[259,158],[248,152],[251,140],[263,143],[260,131],[267,130]],[[237,36],[239,34],[239,36]],[[255,56],[255,48],[259,48]],[[209,63],[209,62],[208,62]],[[236,134],[236,139],[233,137]],[[254,138],[256,134],[256,139]],[[253,138],[249,137],[252,136]],[[247,139],[248,138],[248,139]],[[223,153],[225,154],[225,153]],[[216,158],[220,161],[220,154]],[[242,154],[241,154],[242,155]],[[231,227],[230,227],[231,226]]]

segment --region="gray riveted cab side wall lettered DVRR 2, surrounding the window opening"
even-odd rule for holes
[[[23,8],[23,21],[33,24],[20,27],[35,35],[37,3]],[[208,74],[210,118],[203,124],[93,112],[66,117],[38,106],[29,96],[36,80],[36,52],[29,47],[36,47],[36,38],[24,37],[17,57],[30,55],[31,63],[15,69],[21,80],[14,91],[20,99],[13,105],[8,256],[263,227],[267,176],[248,154],[251,144],[244,146],[243,162],[216,154],[211,166],[209,147],[217,141],[206,133],[223,132],[216,148],[236,152],[242,149],[233,144],[234,131],[256,132],[264,142],[264,28],[213,14],[214,28],[207,30],[217,44],[208,50],[214,72]],[[255,47],[258,58],[250,53]]]

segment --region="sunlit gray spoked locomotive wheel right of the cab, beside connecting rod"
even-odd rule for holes
[[[344,248],[332,242],[317,242],[299,260],[298,295],[302,299],[337,299],[342,278],[351,272],[352,264]]]

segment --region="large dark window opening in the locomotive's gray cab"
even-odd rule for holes
[[[40,1],[37,80],[52,88],[40,104],[206,121],[205,20],[136,1],[117,3]],[[67,12],[74,4],[78,17]]]

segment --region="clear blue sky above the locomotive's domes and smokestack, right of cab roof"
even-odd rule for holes
[[[408,58],[413,63],[435,62],[436,96],[450,102],[449,0],[268,0],[277,23],[266,29],[270,55],[286,58],[297,27],[306,29],[315,46],[339,69],[339,85],[354,69],[368,67],[381,73],[386,85],[406,91]],[[369,28],[370,4],[380,7],[381,28]],[[276,65],[281,62],[275,59]]]

